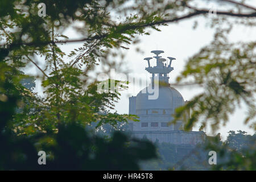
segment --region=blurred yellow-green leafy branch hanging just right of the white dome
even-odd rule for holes
[[[193,77],[196,84],[204,86],[204,93],[176,111],[176,119],[191,111],[185,129],[191,129],[201,119],[203,126],[210,125],[216,131],[226,124],[241,101],[248,110],[245,124],[255,127],[256,43],[229,44],[226,36],[226,31],[216,33],[213,42],[191,57],[182,76],[177,78],[180,81]]]

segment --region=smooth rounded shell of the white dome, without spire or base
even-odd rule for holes
[[[148,87],[147,87],[148,88]],[[147,89],[144,88],[144,89]],[[144,90],[143,89],[143,90]],[[183,105],[184,100],[181,94],[170,86],[160,86],[159,95],[155,100],[148,99],[148,96],[153,96],[154,93],[139,92],[136,97],[136,110],[145,109],[176,109],[176,107]]]

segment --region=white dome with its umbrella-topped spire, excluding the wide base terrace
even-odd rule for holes
[[[144,59],[148,62],[148,67],[145,69],[152,75],[151,84],[141,90],[136,97],[129,97],[129,114],[138,115],[140,121],[131,123],[131,130],[138,133],[148,132],[150,136],[152,135],[151,132],[180,130],[180,126],[183,126],[182,121],[169,124],[174,119],[175,109],[184,105],[181,94],[169,84],[170,77],[168,77],[168,73],[174,70],[171,63],[175,58],[167,57],[170,62],[163,64],[165,59],[159,56],[163,51],[151,52],[156,55],[154,56],[156,66],[152,67],[150,65],[152,57]],[[159,88],[155,86],[155,89],[151,89],[152,83],[158,83],[156,86],[159,86]],[[153,93],[150,92],[151,90]],[[161,137],[164,136],[161,134]]]

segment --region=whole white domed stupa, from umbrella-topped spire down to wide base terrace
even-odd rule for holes
[[[164,64],[166,59],[159,56],[163,51],[151,51],[156,56],[156,66],[150,66],[152,57],[146,57],[148,67],[146,71],[152,74],[151,83],[142,89],[137,96],[129,98],[129,114],[136,114],[139,122],[129,121],[130,130],[134,137],[144,138],[155,142],[172,144],[195,145],[204,141],[206,135],[203,131],[183,131],[183,121],[172,124],[172,114],[175,109],[184,105],[184,98],[169,84],[168,73],[173,57],[167,57],[170,62]],[[189,117],[189,113],[187,114]]]

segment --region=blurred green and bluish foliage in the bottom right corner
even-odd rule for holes
[[[247,135],[245,131],[229,131],[225,142],[215,138],[205,148],[217,152],[217,165],[213,170],[250,170],[256,169],[256,134]]]

